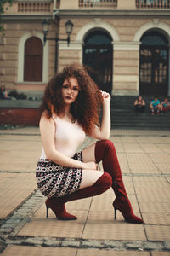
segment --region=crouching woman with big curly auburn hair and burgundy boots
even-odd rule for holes
[[[72,64],[48,83],[42,101],[40,131],[42,155],[37,163],[37,186],[47,196],[48,208],[63,220],[77,219],[66,212],[65,203],[99,195],[111,188],[116,199],[115,209],[127,222],[143,223],[133,214],[122,182],[122,172],[111,131],[111,96],[101,92],[84,67]],[[99,126],[99,108],[103,105]],[[85,135],[98,139],[97,143],[76,153]],[[105,172],[97,170],[99,161]]]

